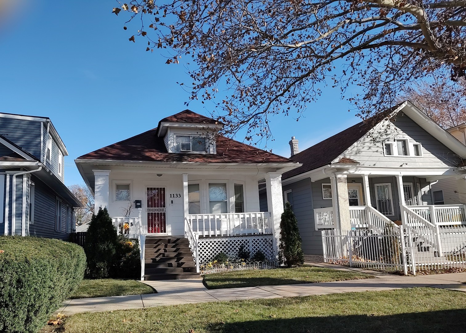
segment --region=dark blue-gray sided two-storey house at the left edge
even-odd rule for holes
[[[0,235],[69,239],[82,205],[64,184],[67,155],[49,118],[0,113]]]

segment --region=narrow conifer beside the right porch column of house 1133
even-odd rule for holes
[[[304,254],[301,249],[301,236],[299,235],[298,220],[291,209],[289,202],[285,204],[285,211],[281,215],[280,244],[278,258],[281,264],[288,268],[304,263]]]

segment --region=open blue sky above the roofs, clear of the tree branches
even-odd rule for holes
[[[15,7],[7,19],[0,15],[0,112],[52,119],[69,152],[67,185],[82,183],[76,157],[186,108],[188,94],[176,84],[190,83],[182,62],[166,65],[141,38],[129,42],[124,17],[111,14],[116,1],[5,1]],[[189,109],[209,111],[201,103]],[[328,87],[299,122],[274,117],[268,146],[289,157],[291,136],[303,150],[359,122],[348,109],[339,89]]]

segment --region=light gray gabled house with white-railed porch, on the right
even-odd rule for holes
[[[409,101],[302,152],[294,138],[290,146],[290,159],[302,166],[283,173],[283,196],[297,217],[305,255],[322,255],[322,230],[401,224],[402,212],[466,223],[464,205],[437,204],[431,191],[431,183],[462,175],[458,187],[466,193],[466,146]],[[263,209],[265,199],[261,191]],[[444,214],[451,209],[463,221],[456,221],[461,214]]]

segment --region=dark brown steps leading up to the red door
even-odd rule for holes
[[[199,278],[187,239],[147,236],[144,280]]]

